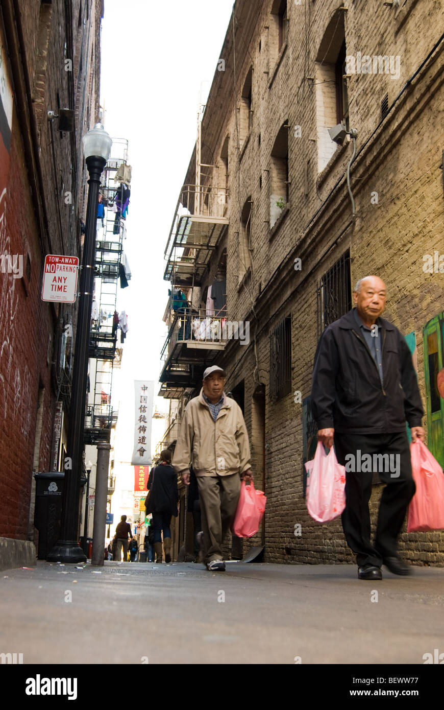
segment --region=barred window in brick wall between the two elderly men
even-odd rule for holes
[[[279,400],[292,391],[292,318],[287,316],[270,335],[270,395]]]

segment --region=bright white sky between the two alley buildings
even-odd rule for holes
[[[116,465],[131,460],[133,381],[154,380],[155,395],[160,389],[160,351],[167,335],[162,315],[170,287],[163,280],[164,251],[196,143],[199,93],[213,79],[232,9],[233,0],[105,0],[104,126],[112,138],[128,139],[133,169],[123,245],[132,278],[128,288],[118,286],[117,297],[129,330],[121,370],[113,376]],[[168,400],[155,397],[155,406],[167,412]],[[154,423],[152,450],[165,428],[162,420]]]

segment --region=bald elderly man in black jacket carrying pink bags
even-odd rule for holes
[[[415,492],[406,421],[412,439],[424,439],[423,407],[409,347],[399,330],[380,317],[386,297],[384,281],[377,276],[357,282],[355,308],[328,326],[318,342],[311,392],[318,439],[328,447],[334,442],[338,461],[345,466],[345,538],[355,552],[359,579],[372,580],[382,579],[382,564],[394,574],[411,572],[396,551]],[[369,500],[374,471],[387,485],[372,545]]]

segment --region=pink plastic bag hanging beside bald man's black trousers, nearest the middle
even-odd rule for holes
[[[305,464],[306,506],[318,523],[334,520],[345,508],[345,467],[338,464],[335,449],[328,454],[318,442],[314,459]]]

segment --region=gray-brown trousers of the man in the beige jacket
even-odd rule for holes
[[[196,476],[204,532],[204,564],[222,559],[221,547],[240,496],[240,474]]]

